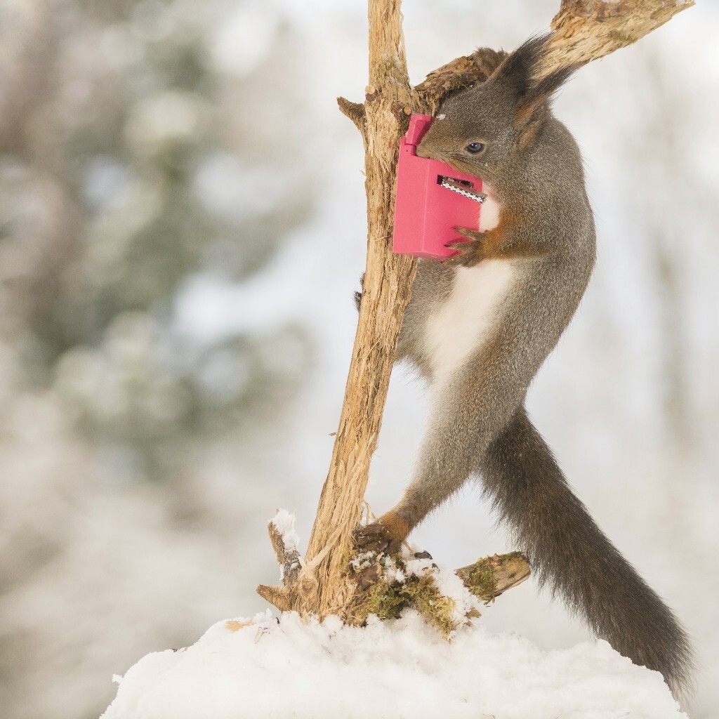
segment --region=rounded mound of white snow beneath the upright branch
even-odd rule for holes
[[[657,672],[604,641],[544,652],[468,626],[451,644],[415,612],[367,626],[267,610],[158,651],[101,719],[679,719]]]

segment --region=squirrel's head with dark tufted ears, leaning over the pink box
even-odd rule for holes
[[[549,100],[574,67],[537,81],[549,35],[533,37],[507,55],[481,85],[449,96],[417,147],[419,157],[498,183],[516,173],[549,119]]]

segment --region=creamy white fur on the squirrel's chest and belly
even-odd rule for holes
[[[485,192],[487,189],[482,188]],[[480,212],[480,230],[499,222],[499,207],[487,193]],[[516,275],[511,260],[484,260],[474,267],[459,267],[452,292],[429,318],[425,330],[433,384],[442,382],[480,347],[493,326],[500,302],[508,295]]]

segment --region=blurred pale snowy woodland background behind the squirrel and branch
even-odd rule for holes
[[[413,81],[516,47],[555,0],[408,0]],[[577,492],[695,636],[719,712],[719,7],[583,69],[556,103],[598,265],[531,410]],[[148,651],[264,603],[265,525],[306,539],[365,245],[365,6],[0,2],[0,706],[91,719]],[[423,392],[393,377],[369,499],[408,479]],[[414,539],[508,549],[477,490]],[[528,582],[488,608],[544,648],[587,635]]]

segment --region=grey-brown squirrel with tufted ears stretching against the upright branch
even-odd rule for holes
[[[396,553],[479,475],[539,585],[620,654],[661,672],[678,696],[691,679],[687,633],[572,493],[525,408],[595,263],[580,151],[550,107],[576,68],[535,79],[547,37],[450,95],[418,145],[418,156],[482,178],[488,200],[478,230],[455,228],[466,238],[450,245],[457,255],[418,262],[397,360],[429,381],[429,426],[403,498],[354,541]]]

